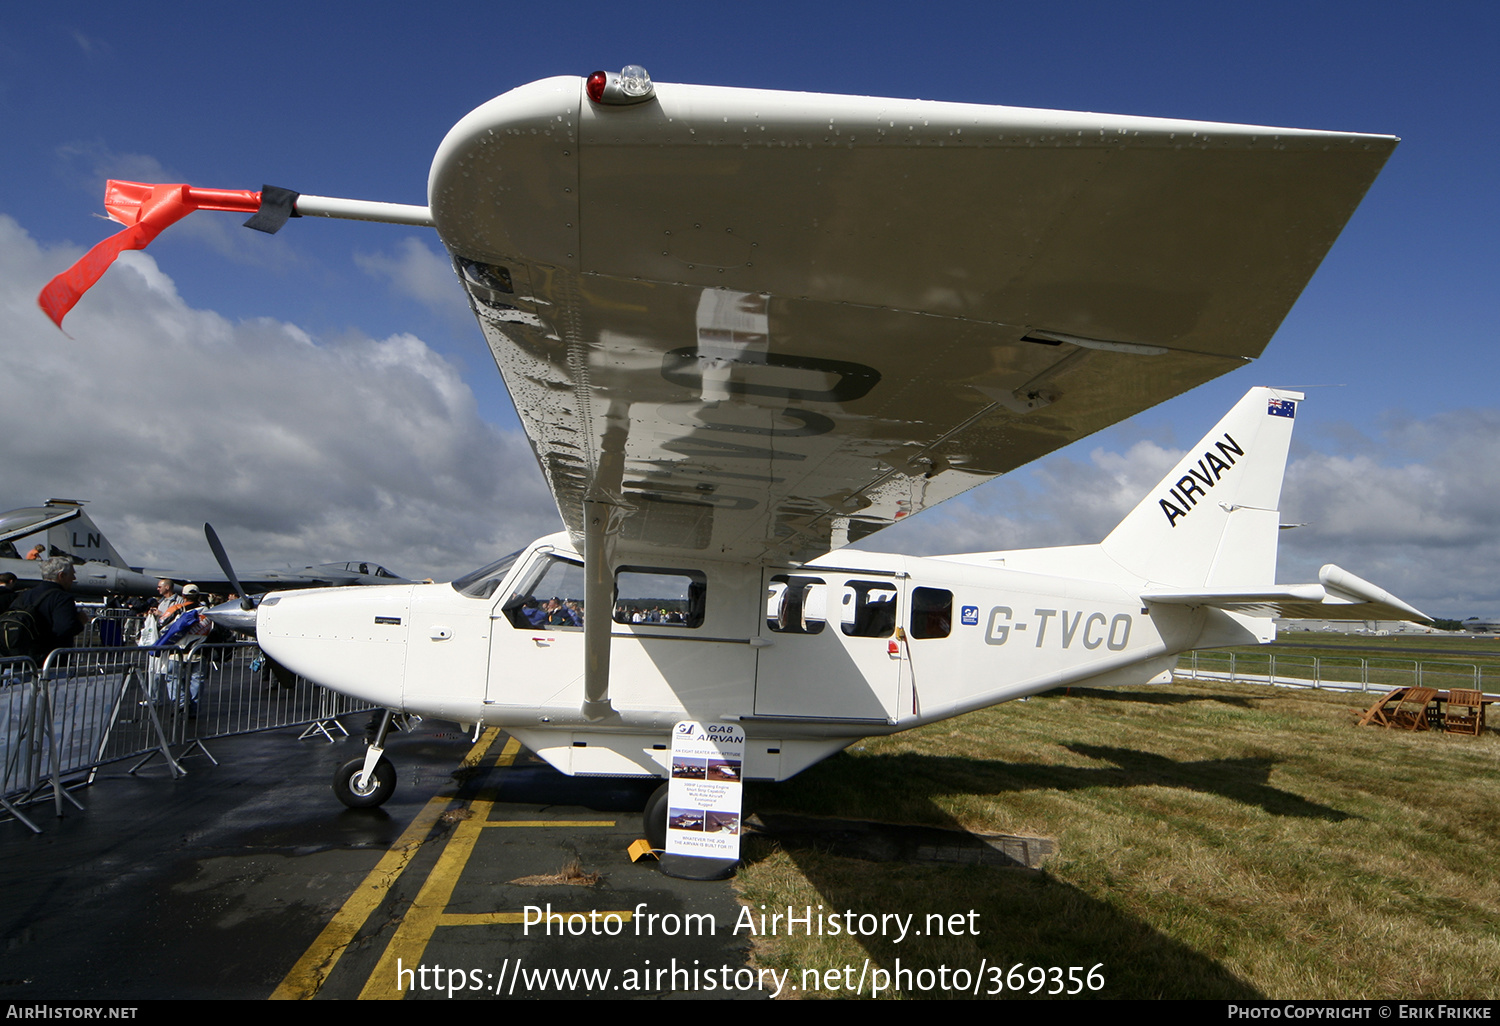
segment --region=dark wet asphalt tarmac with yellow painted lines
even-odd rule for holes
[[[766,996],[728,882],[630,861],[654,782],[418,724],[392,801],[350,810],[364,720],[213,741],[180,780],[116,764],[84,812],[33,806],[42,834],[0,822],[0,1000]]]

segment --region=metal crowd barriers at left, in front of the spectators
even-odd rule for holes
[[[278,728],[344,730],[336,718],[370,711],[258,658],[254,644],[198,645],[190,652],[135,646],[60,648],[40,670],[32,660],[0,660],[0,802],[33,831],[21,808],[51,796],[80,808],[69,784],[110,762],[158,756],[172,777],[182,760],[218,762],[207,741]],[[38,831],[40,832],[40,831]]]

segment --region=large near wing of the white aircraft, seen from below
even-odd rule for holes
[[[429,200],[574,542],[807,560],[1258,356],[1394,146],[558,78]]]

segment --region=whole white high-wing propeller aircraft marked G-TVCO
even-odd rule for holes
[[[630,66],[471,112],[429,207],[132,195],[435,226],[562,514],[452,584],[273,594],[267,654],[567,774],[666,777],[698,718],[784,780],[867,735],[1166,681],[1274,615],[1424,620],[1336,567],[1274,584],[1302,396],[1272,388],[1101,544],[844,548],[1258,356],[1395,142]],[[81,288],[58,280],[60,320]],[[394,786],[382,741],[342,768],[346,804]],[[664,820],[654,796],[652,840]]]

